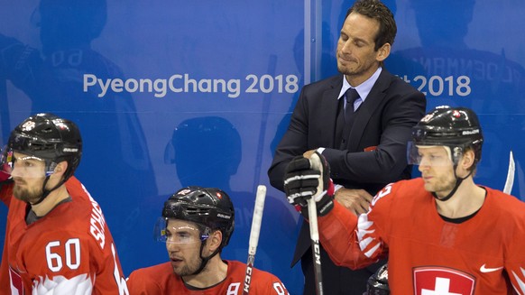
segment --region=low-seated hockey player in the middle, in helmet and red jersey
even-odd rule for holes
[[[234,232],[234,220],[234,206],[224,191],[201,187],[177,191],[164,203],[155,226],[170,262],[132,272],[130,294],[243,294],[246,264],[220,256]],[[250,294],[289,293],[277,277],[253,269]]]

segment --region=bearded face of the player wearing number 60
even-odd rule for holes
[[[13,195],[24,202],[36,202],[42,195],[45,180],[45,162],[23,153],[14,152]]]

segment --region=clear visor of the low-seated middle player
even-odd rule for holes
[[[194,244],[206,240],[211,229],[205,227],[204,231],[188,222],[170,223],[169,219],[160,217],[153,230],[153,239],[167,244]]]

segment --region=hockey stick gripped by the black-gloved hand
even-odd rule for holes
[[[321,171],[322,167],[320,161],[311,161],[312,169]],[[326,191],[322,192],[323,194]],[[323,276],[321,272],[321,253],[319,248],[319,228],[318,228],[318,207],[315,201],[315,196],[309,198],[309,226],[310,226],[310,240],[312,243],[312,257],[314,263],[314,275],[316,278],[316,294],[323,295]]]

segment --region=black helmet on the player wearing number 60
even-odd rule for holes
[[[82,138],[73,122],[52,114],[37,114],[16,126],[7,148],[45,161],[46,172],[52,173],[60,161],[68,162],[64,180],[73,175],[82,157]]]

